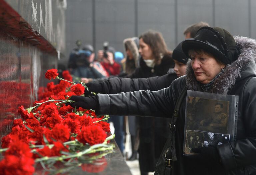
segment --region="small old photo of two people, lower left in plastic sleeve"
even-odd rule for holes
[[[186,142],[184,145],[184,154],[194,154],[191,152],[192,148],[203,146],[204,133],[201,131],[186,131]]]

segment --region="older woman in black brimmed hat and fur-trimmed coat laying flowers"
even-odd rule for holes
[[[236,141],[202,147],[198,156],[184,156],[185,98],[176,122],[175,175],[256,174],[256,41],[233,37],[221,28],[203,27],[182,44],[191,61],[186,76],[159,91],[136,91],[77,97],[72,106],[95,109],[97,114],[170,117],[182,89],[239,96]],[[155,174],[164,174],[155,171]],[[166,173],[165,173],[166,174]]]

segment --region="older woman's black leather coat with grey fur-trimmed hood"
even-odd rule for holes
[[[236,37],[241,47],[239,58],[227,65],[212,85],[210,92],[239,96],[237,140],[217,147],[222,165],[229,175],[256,174],[256,42]],[[173,81],[170,87],[159,91],[136,91],[115,95],[99,94],[97,114],[139,115],[171,117],[174,104],[186,85],[189,90],[202,91],[195,80],[191,65],[187,75]],[[176,155],[173,171],[175,175],[216,174],[204,163],[198,163],[194,156],[184,156],[185,98],[182,101],[176,123]],[[207,160],[205,160],[207,161]]]

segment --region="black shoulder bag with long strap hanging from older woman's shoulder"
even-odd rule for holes
[[[169,123],[170,135],[164,145],[161,156],[157,161],[154,175],[171,175],[173,162],[177,161],[176,149],[175,149],[175,123],[179,117],[181,102],[186,94],[187,94],[187,87],[185,86],[182,89],[180,96],[176,102],[175,110],[174,110],[171,122]]]

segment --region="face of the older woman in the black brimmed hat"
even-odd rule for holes
[[[189,55],[196,80],[202,84],[209,83],[225,67],[225,64],[203,50],[189,50]]]

